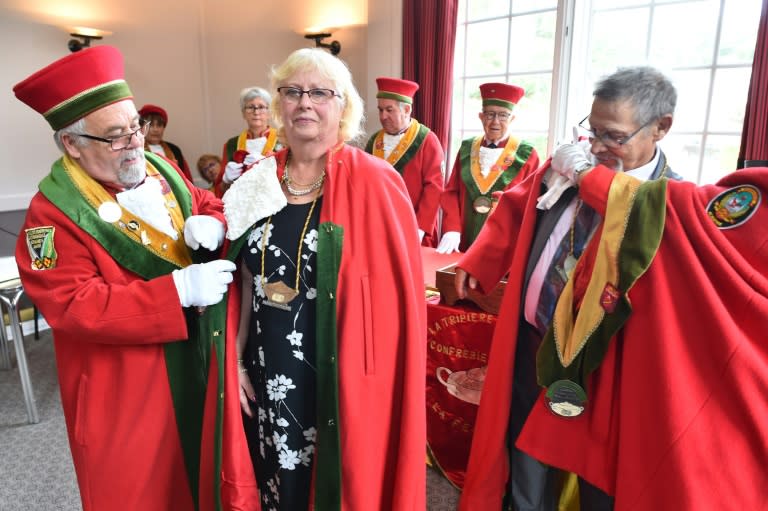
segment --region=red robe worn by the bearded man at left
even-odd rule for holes
[[[154,161],[156,168],[171,181],[177,171],[159,160]],[[179,175],[175,178],[184,181]],[[221,201],[213,194],[187,181],[181,186],[191,194],[191,214],[224,221]],[[77,200],[82,199],[72,197]],[[78,207],[78,221],[89,221],[89,206],[83,201]],[[83,510],[195,510],[166,367],[166,345],[186,342],[191,334],[173,277],[146,280],[121,266],[42,192],[32,198],[23,229],[38,227],[55,229],[50,240],[55,267],[33,269],[24,230],[16,245],[16,261],[25,293],[53,330],[59,390]],[[98,229],[114,228],[102,221]],[[143,249],[137,244],[133,250]],[[187,313],[197,315],[191,309]],[[200,510],[217,509],[214,488],[221,487],[225,510],[252,509],[238,504],[251,500],[249,491],[255,498],[236,390],[237,357],[234,345],[227,349],[233,351],[228,362],[235,390],[225,387],[226,396],[234,399],[224,400],[223,430],[239,436],[214,439],[217,386],[208,385],[200,448]],[[212,356],[208,381],[218,377]],[[233,430],[235,420],[238,429]],[[223,448],[221,481],[213,478],[214,457],[219,456],[213,452],[215,444]]]

